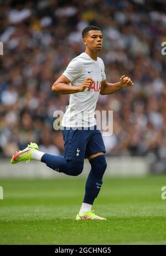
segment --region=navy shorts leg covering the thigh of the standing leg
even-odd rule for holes
[[[96,131],[94,135],[92,135],[89,142],[87,143],[85,150],[85,158],[89,159],[92,155],[96,155],[97,153],[106,153],[105,144],[103,142],[102,135],[99,130]]]

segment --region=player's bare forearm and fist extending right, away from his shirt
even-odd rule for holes
[[[106,80],[103,80],[101,82],[101,89],[100,94],[106,95],[106,94],[112,94],[115,92],[120,91],[122,88],[133,86],[133,82],[129,77],[122,76],[120,78],[120,82],[118,83],[107,83]]]

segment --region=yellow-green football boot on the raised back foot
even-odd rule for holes
[[[39,150],[39,147],[36,143],[30,142],[27,148],[19,150],[19,152],[16,152],[15,155],[13,155],[11,159],[11,164],[17,164],[22,161],[26,161],[26,163],[29,163],[31,160],[30,156],[33,150]]]

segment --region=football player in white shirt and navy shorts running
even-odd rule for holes
[[[70,103],[61,123],[65,155],[40,152],[36,143],[30,143],[12,157],[11,163],[31,159],[41,161],[57,172],[77,176],[82,172],[84,159],[91,165],[85,185],[85,196],[76,220],[106,220],[92,210],[100,192],[102,177],[107,163],[105,145],[94,117],[99,94],[112,94],[124,87],[133,86],[129,77],[122,76],[120,82],[107,83],[105,66],[98,53],[102,49],[101,29],[88,26],[82,31],[85,52],[72,59],[65,72],[55,81],[53,93],[71,94]],[[70,85],[69,85],[70,84]]]

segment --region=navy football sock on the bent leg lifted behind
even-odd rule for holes
[[[43,155],[41,162],[57,172],[71,176],[79,175],[84,167],[83,161],[66,160],[61,155],[51,155],[47,153]]]

